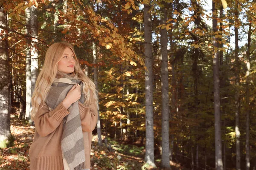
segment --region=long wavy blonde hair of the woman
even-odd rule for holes
[[[70,77],[77,76],[84,85],[84,97],[85,102],[84,105],[89,105],[92,102],[97,104],[98,97],[96,95],[95,84],[93,81],[87,77],[82,69],[80,68],[79,61],[76,57],[75,50],[72,45],[67,42],[56,42],[52,44],[45,55],[44,65],[42,67],[41,72],[38,75],[38,79],[35,83],[35,91],[33,92],[31,103],[32,103],[32,111],[31,111],[31,119],[34,120],[36,113],[39,110],[39,106],[41,108],[46,106],[46,97],[51,88],[52,82],[55,78],[61,78],[64,75],[58,71],[58,62],[61,60],[61,57],[66,48],[70,48],[75,55],[75,67],[74,72],[70,74]],[[93,99],[90,99],[90,91],[93,93]]]

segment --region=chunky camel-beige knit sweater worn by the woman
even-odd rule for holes
[[[90,169],[92,131],[98,119],[97,105],[92,103],[87,107],[79,102],[79,112],[84,136],[86,168]],[[30,170],[64,170],[61,136],[63,118],[69,113],[61,102],[52,111],[49,111],[47,106],[43,106],[35,115],[35,136],[29,148]]]

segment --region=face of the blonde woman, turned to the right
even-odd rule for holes
[[[58,71],[61,71],[64,75],[73,73],[75,63],[75,55],[73,51],[69,47],[67,47],[64,50],[61,60],[58,62]]]

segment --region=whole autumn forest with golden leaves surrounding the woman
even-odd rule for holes
[[[256,0],[0,0],[0,170],[29,170],[54,42],[96,85],[92,170],[256,170]]]

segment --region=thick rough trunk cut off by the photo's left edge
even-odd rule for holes
[[[0,25],[7,27],[7,13],[0,4]],[[0,148],[7,147],[10,129],[10,72],[6,31],[0,28]]]

